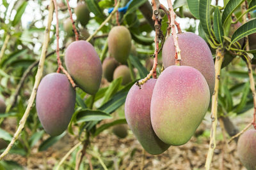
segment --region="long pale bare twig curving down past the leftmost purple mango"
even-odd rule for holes
[[[35,96],[36,96],[36,90],[38,88],[38,85],[40,83],[40,80],[42,78],[42,74],[43,74],[43,71],[44,71],[44,61],[45,61],[47,46],[48,46],[48,43],[49,43],[49,34],[50,34],[50,30],[51,30],[52,13],[53,13],[53,3],[51,2],[50,5],[49,5],[49,15],[48,15],[47,27],[45,27],[44,43],[43,43],[43,46],[42,46],[42,53],[41,53],[40,61],[39,61],[39,64],[38,64],[38,70],[37,70],[36,77],[35,77],[35,84],[34,84],[34,87],[33,87],[33,91],[31,93],[31,96],[29,97],[28,106],[26,108],[26,111],[25,111],[23,117],[21,118],[21,120],[19,122],[19,127],[18,127],[17,131],[15,132],[15,134],[12,138],[12,141],[9,143],[9,145],[4,150],[4,152],[0,155],[0,160],[3,159],[3,157],[10,151],[10,149],[12,148],[15,141],[19,138],[19,134],[22,131],[22,129],[24,128],[24,125],[25,125],[26,120],[28,118],[29,112],[30,112],[30,110],[33,106]]]

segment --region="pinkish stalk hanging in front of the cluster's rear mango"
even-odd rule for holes
[[[172,1],[168,0],[167,3],[168,3],[169,11],[170,11],[170,16],[171,16],[171,22],[169,23],[169,25],[172,29],[173,41],[174,41],[174,46],[175,46],[175,65],[180,66],[180,60],[181,60],[180,47],[179,47],[179,43],[178,43],[178,36],[177,36],[176,30],[175,30],[175,24],[178,24],[178,23],[175,21],[176,14],[173,10]],[[178,24],[177,28],[178,28],[178,31],[181,32],[179,30],[180,29],[179,24]]]

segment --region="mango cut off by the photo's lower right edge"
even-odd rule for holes
[[[237,143],[238,157],[248,170],[256,169],[256,130],[244,132]]]

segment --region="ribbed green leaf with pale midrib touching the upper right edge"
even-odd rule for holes
[[[239,27],[234,32],[234,34],[232,35],[232,38],[231,38],[230,45],[232,45],[234,42],[238,41],[239,39],[244,38],[245,36],[248,36],[255,32],[256,32],[256,18],[241,25],[241,27]]]

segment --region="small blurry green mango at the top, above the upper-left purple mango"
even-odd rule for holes
[[[79,2],[77,3],[77,7],[75,8],[75,13],[77,17],[77,21],[81,23],[81,25],[85,26],[88,24],[90,20],[90,11],[86,3]]]

